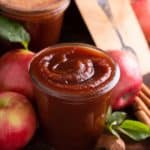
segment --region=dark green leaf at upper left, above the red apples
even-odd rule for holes
[[[10,42],[21,43],[26,49],[30,42],[30,36],[21,24],[3,16],[0,16],[0,37]]]

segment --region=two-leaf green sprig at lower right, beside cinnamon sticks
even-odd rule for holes
[[[126,116],[125,112],[116,111],[112,113],[112,110],[109,109],[106,117],[106,128],[117,138],[119,138],[119,132],[135,141],[150,137],[148,125],[135,120],[125,120]]]

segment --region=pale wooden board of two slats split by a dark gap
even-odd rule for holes
[[[75,0],[97,47],[120,49],[120,41],[112,24],[97,0]],[[150,73],[150,50],[128,0],[109,0],[115,24],[123,40],[131,46],[139,59],[142,74]]]

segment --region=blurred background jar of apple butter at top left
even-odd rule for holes
[[[0,0],[0,14],[24,25],[31,35],[29,48],[38,51],[58,41],[69,3],[70,0]],[[4,49],[10,48],[4,40],[0,44]]]

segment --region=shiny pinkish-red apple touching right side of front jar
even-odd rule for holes
[[[110,50],[108,54],[120,67],[120,80],[112,92],[112,108],[122,109],[133,103],[141,89],[142,76],[137,59],[130,51]]]

